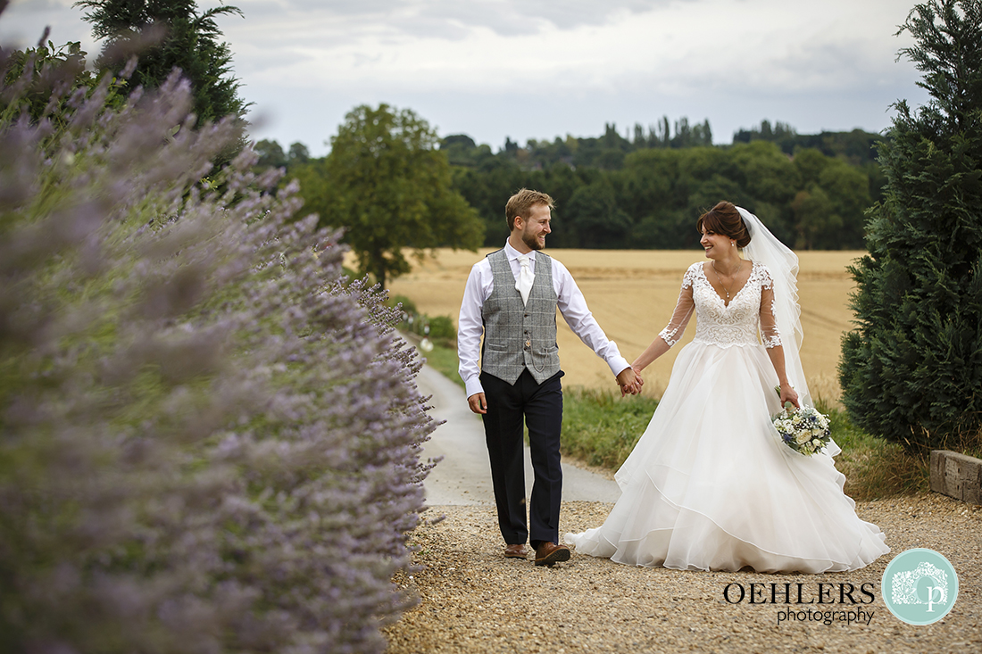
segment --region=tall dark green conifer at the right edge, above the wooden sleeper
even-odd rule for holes
[[[905,101],[880,145],[884,199],[851,268],[843,402],[912,450],[977,447],[982,425],[982,0],[930,0],[900,50],[930,100]],[[898,32],[898,33],[900,33]]]

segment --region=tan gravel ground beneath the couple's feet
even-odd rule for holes
[[[565,503],[561,533],[598,525],[612,506]],[[929,495],[861,503],[857,512],[886,532],[890,554],[856,572],[770,575],[633,568],[575,553],[568,563],[536,568],[531,559],[501,556],[492,507],[432,507],[411,534],[423,570],[397,578],[421,602],[386,628],[389,652],[982,652],[982,507]],[[958,573],[954,609],[925,627],[901,623],[881,599],[887,564],[913,547],[942,553]],[[788,606],[730,604],[723,596],[730,583],[772,582],[803,584],[805,601],[817,597],[819,582],[837,584],[837,599],[840,583],[872,584],[874,601],[845,606],[872,617],[779,625]]]

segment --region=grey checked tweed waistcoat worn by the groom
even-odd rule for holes
[[[556,345],[556,290],[552,281],[552,258],[535,252],[535,281],[522,304],[515,288],[515,274],[504,249],[488,254],[494,289],[484,300],[484,346],[481,369],[514,384],[528,368],[541,384],[559,372]]]

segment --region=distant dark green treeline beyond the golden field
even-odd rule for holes
[[[880,199],[884,177],[875,143],[861,130],[798,135],[783,123],[740,130],[731,145],[713,145],[709,122],[668,118],[624,136],[508,138],[493,152],[465,135],[446,136],[440,149],[453,184],[485,223],[484,245],[507,238],[505,201],[520,188],[556,199],[553,247],[688,248],[698,244],[695,219],[721,199],[756,213],[785,243],[800,249],[863,247],[863,212]],[[630,136],[630,137],[628,137]],[[260,141],[260,163],[308,167],[306,147],[285,154]],[[298,173],[300,171],[297,171]],[[313,190],[311,190],[313,191]],[[303,191],[301,191],[303,192]]]

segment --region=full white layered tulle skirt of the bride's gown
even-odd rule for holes
[[[805,457],[780,441],[777,375],[763,347],[694,342],[616,479],[603,525],[576,552],[677,570],[837,572],[890,548],[855,514],[830,443]]]

